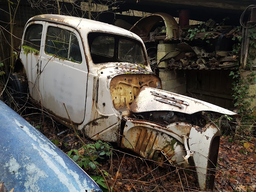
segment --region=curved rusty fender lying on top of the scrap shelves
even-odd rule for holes
[[[137,21],[137,23],[131,27],[130,31],[140,37],[148,37],[152,27],[162,20],[164,21],[166,28],[166,35],[163,36],[163,40],[178,37],[178,24],[171,15],[166,13],[149,14]]]

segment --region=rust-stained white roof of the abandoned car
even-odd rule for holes
[[[31,21],[47,21],[47,22],[52,22],[52,23],[58,23],[58,24],[65,24],[67,26],[71,26],[73,28],[76,28],[80,30],[81,32],[88,32],[91,31],[98,31],[98,32],[108,32],[112,34],[120,34],[120,35],[125,35],[128,37],[133,37],[138,40],[141,40],[139,36],[136,34],[122,29],[117,26],[113,26],[111,24],[107,23],[102,23],[99,21],[94,21],[94,20],[89,20],[85,18],[80,18],[80,17],[73,17],[73,16],[67,16],[67,15],[53,15],[53,14],[44,14],[44,15],[37,15],[32,18],[30,18],[27,23]]]

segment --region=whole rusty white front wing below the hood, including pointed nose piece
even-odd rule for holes
[[[128,148],[144,158],[163,162],[161,155],[180,166],[195,166],[202,190],[214,181],[220,131],[214,123],[203,128],[188,123],[176,122],[168,126],[138,119],[126,119],[122,148]],[[178,125],[178,126],[177,126]],[[185,156],[186,155],[186,156]],[[209,170],[210,169],[210,170]],[[213,185],[209,186],[211,189]]]

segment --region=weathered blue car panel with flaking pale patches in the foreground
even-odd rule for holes
[[[0,182],[8,191],[100,192],[64,152],[0,101]]]

